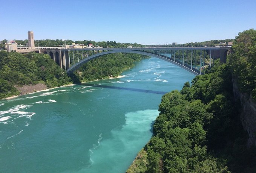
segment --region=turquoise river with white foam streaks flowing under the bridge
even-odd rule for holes
[[[122,76],[0,100],[0,172],[124,173],[162,95],[195,76],[157,58]]]

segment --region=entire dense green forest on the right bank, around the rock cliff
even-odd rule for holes
[[[239,33],[229,58],[162,96],[153,136],[127,172],[256,172],[232,83],[255,100],[256,30]]]

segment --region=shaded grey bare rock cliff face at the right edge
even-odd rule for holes
[[[239,100],[242,107],[240,114],[242,126],[249,135],[247,146],[256,146],[256,104],[249,94],[239,91],[236,80],[233,79],[232,82],[234,99]]]

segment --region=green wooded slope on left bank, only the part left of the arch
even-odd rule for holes
[[[34,85],[44,81],[48,88],[71,83],[71,78],[49,57],[0,51],[0,99],[19,94],[14,86]]]

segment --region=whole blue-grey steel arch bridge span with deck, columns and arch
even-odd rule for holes
[[[61,55],[63,56],[63,65],[65,65],[65,68],[68,74],[73,73],[75,70],[77,70],[86,62],[92,59],[98,58],[100,56],[108,55],[111,53],[137,53],[140,55],[153,56],[153,57],[162,59],[164,61],[171,62],[172,64],[175,64],[195,75],[201,75],[202,73],[204,73],[204,68],[205,68],[204,60],[202,61],[202,51],[204,51],[203,59],[205,59],[205,51],[207,51],[207,53],[209,54],[210,62],[208,63],[208,65],[211,68],[212,58],[215,58],[215,59],[220,58],[221,62],[225,63],[227,54],[229,53],[230,49],[231,47],[145,47],[145,48],[135,47],[135,48],[60,49],[60,51],[63,52],[61,53]],[[196,60],[196,56],[194,56],[194,59],[193,59],[193,54],[198,50],[200,51],[200,62],[197,64],[198,59]],[[85,58],[83,57],[81,59],[79,58],[78,51],[87,51],[87,52],[91,51],[92,55],[88,56],[88,53],[87,53],[86,54],[87,57]],[[184,51],[187,51],[187,54],[186,54],[187,56],[188,56],[188,51],[191,52],[190,63],[188,63],[188,57],[186,57],[187,61],[184,60]],[[74,60],[73,61],[74,64],[72,66],[71,66],[72,58],[69,56],[70,52],[72,52],[73,60]],[[178,55],[176,55],[177,52],[178,52]],[[182,52],[182,61],[179,60],[181,59],[180,52]],[[76,63],[74,58],[75,54],[77,54],[77,59],[78,59],[78,62]],[[176,56],[178,57],[176,58]]]

